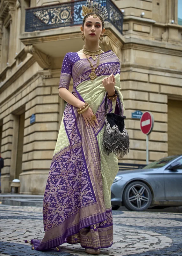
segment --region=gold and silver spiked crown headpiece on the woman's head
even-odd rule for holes
[[[101,4],[98,4],[96,2],[87,0],[87,5],[82,6],[82,15],[84,16],[85,20],[87,17],[93,15],[94,18],[97,18],[97,16],[101,19],[103,25],[104,20],[108,18],[108,13],[106,10],[106,7],[101,6]]]

